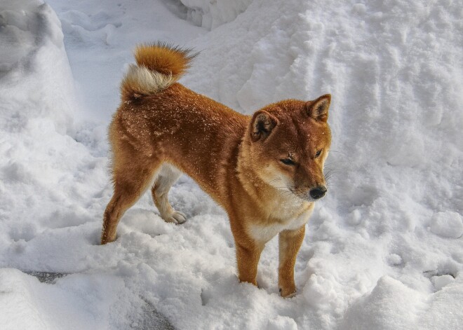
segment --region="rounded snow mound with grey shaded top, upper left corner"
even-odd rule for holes
[[[65,133],[75,102],[60,20],[43,1],[6,0],[0,27],[0,114],[5,120],[14,113],[4,127],[20,129],[33,118],[49,118]]]

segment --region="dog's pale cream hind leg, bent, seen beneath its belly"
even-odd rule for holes
[[[187,221],[187,217],[182,213],[175,211],[168,200],[170,187],[175,184],[175,181],[182,175],[182,172],[168,163],[163,163],[159,174],[151,188],[154,204],[159,209],[161,218],[166,222],[175,224],[183,224]]]

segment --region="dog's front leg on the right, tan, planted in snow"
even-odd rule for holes
[[[279,233],[279,288],[284,298],[294,296],[296,285],[294,282],[294,265],[297,252],[302,245],[305,234],[305,225],[295,231],[282,231]]]

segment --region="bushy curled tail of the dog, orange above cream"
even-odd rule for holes
[[[196,54],[192,50],[167,43],[140,45],[121,83],[123,102],[140,99],[165,90],[189,68]]]

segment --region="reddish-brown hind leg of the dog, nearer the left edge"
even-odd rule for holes
[[[116,228],[124,212],[137,202],[153,181],[161,160],[114,157],[114,195],[109,201],[103,216],[101,244],[116,239]]]

